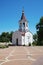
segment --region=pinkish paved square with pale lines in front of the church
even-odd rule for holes
[[[0,49],[0,65],[43,65],[43,46]]]

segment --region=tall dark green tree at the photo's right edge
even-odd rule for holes
[[[43,45],[43,17],[40,18],[39,23],[36,25],[38,35],[38,45]]]

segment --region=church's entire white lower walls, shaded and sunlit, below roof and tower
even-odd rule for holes
[[[16,39],[18,38],[19,45],[29,45],[33,42],[33,35],[30,32],[25,33],[25,36],[22,36],[19,31],[13,33],[12,43],[16,45]]]

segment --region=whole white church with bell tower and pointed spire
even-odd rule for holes
[[[28,21],[24,16],[24,11],[22,11],[21,19],[19,20],[19,29],[15,31],[12,35],[12,44],[14,45],[29,45],[33,42],[33,35],[28,30]]]

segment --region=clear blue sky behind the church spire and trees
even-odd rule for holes
[[[29,30],[36,33],[36,24],[43,16],[43,0],[0,0],[0,33],[18,29],[23,7]]]

